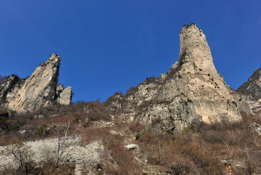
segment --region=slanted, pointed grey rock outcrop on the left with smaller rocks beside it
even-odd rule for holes
[[[0,83],[1,104],[13,110],[33,110],[41,105],[69,105],[71,87],[57,85],[61,56],[52,56],[35,69],[30,77],[11,75]]]

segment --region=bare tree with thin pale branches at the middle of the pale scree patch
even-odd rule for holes
[[[67,157],[78,146],[81,126],[82,122],[70,115],[49,124],[57,140],[55,166],[58,166],[59,161]]]

